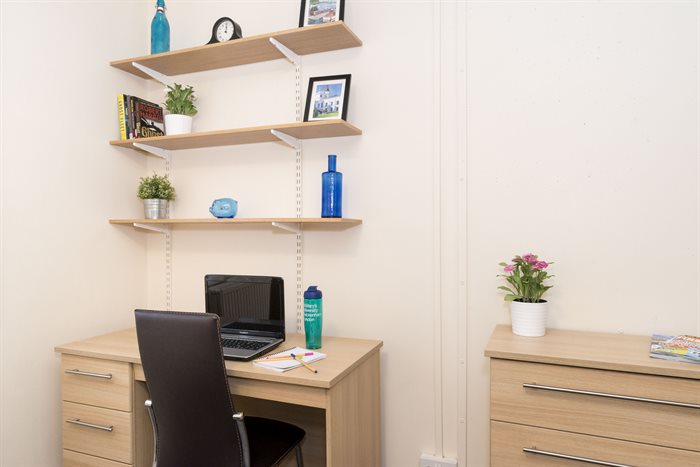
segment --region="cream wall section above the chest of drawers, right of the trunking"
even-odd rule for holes
[[[499,261],[554,261],[552,327],[700,333],[698,2],[470,2],[468,452],[487,464]]]

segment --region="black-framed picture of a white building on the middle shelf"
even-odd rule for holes
[[[310,78],[304,121],[345,120],[348,116],[349,97],[350,75]]]

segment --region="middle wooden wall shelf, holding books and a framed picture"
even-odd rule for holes
[[[327,120],[205,131],[201,133],[190,133],[188,135],[115,140],[110,141],[109,144],[113,146],[135,148],[134,143],[141,143],[160,149],[178,150],[233,146],[237,144],[280,142],[281,140],[274,136],[271,130],[280,131],[297,139],[333,138],[362,134],[362,130],[349,124],[345,120]]]

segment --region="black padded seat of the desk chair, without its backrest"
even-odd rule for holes
[[[251,467],[269,467],[278,463],[304,439],[305,432],[289,423],[269,418],[246,417]]]

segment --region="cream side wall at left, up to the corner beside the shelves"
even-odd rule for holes
[[[136,202],[146,170],[107,144],[116,94],[143,88],[108,66],[146,39],[145,26],[124,31],[138,14],[115,2],[2,3],[2,466],[60,465],[54,346],[130,326],[145,301],[145,239],[107,223]]]

